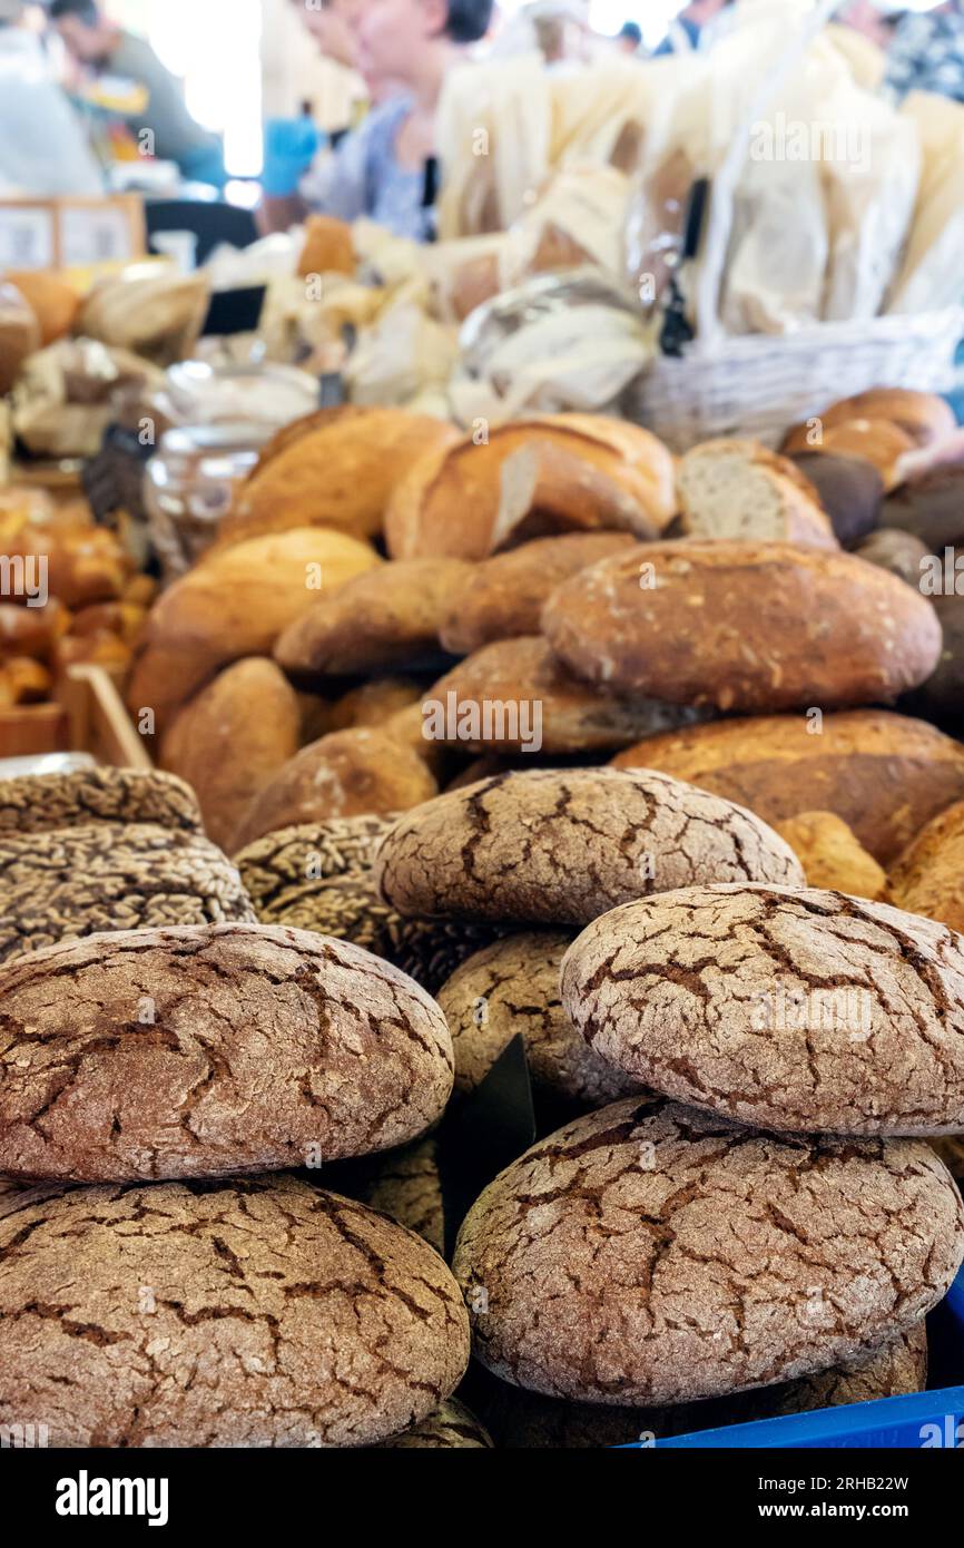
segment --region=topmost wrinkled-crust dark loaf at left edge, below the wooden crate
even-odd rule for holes
[[[94,768],[0,780],[0,833],[48,833],[90,822],[203,831],[193,791],[173,774]]]

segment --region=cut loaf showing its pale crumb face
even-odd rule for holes
[[[679,528],[687,537],[836,548],[817,491],[755,441],[704,441],[679,461]]]

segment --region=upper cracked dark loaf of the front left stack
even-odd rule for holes
[[[388,963],[300,930],[94,935],[0,971],[0,1172],[223,1176],[387,1150],[452,1090],[452,1040]]]

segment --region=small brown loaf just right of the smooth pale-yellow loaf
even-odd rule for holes
[[[354,576],[285,630],[275,661],[296,681],[439,667],[439,628],[467,568],[412,559]]]

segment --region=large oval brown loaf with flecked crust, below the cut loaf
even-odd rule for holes
[[[577,676],[720,711],[888,703],[930,676],[930,602],[853,554],[792,543],[647,543],[559,588],[543,630]]]

